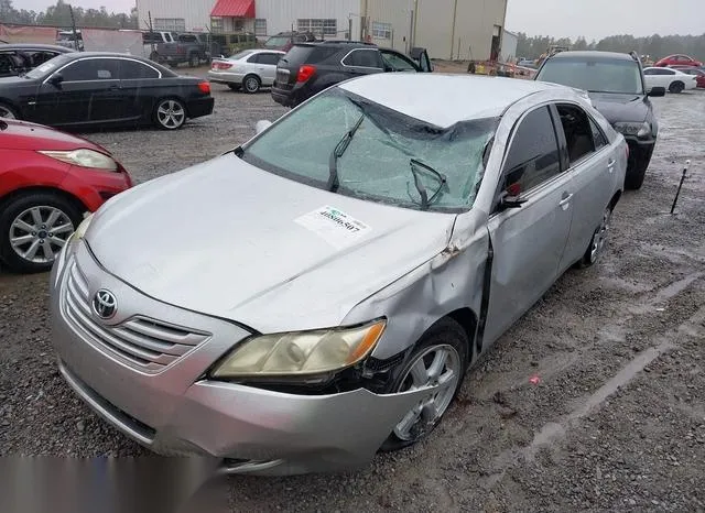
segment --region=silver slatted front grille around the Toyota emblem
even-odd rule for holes
[[[88,284],[75,262],[68,270],[64,305],[74,329],[132,367],[150,373],[162,371],[210,336],[142,316],[117,326],[100,324],[94,318]]]

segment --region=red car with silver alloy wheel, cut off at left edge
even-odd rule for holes
[[[105,148],[0,119],[0,262],[14,272],[48,271],[84,214],[131,186]]]

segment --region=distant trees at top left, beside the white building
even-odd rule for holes
[[[133,8],[129,14],[108,12],[105,7],[100,9],[74,7],[73,9],[78,28],[139,29],[137,8]],[[12,0],[0,0],[0,23],[52,25],[68,29],[72,26],[69,3],[57,0],[55,6],[50,6],[45,11],[36,12],[15,9]]]

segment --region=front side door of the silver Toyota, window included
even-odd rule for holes
[[[494,249],[486,340],[494,342],[553,284],[571,231],[572,183],[562,173],[547,107],[523,117],[505,161],[500,192],[519,208],[497,207],[488,229]]]

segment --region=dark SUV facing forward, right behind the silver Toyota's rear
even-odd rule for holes
[[[647,90],[639,55],[634,52],[561,52],[543,62],[534,79],[588,92],[595,108],[629,144],[625,187],[640,188],[659,134],[659,122],[649,97],[664,96],[665,89]]]

